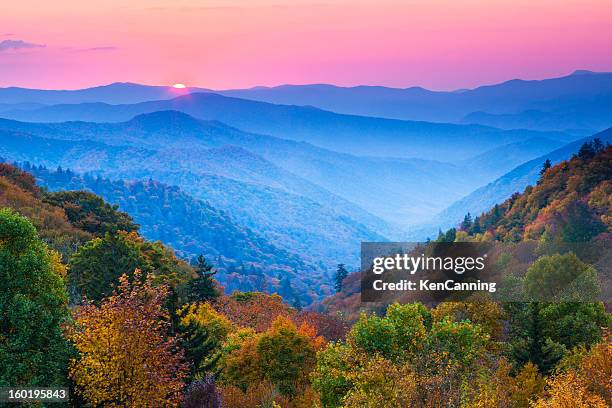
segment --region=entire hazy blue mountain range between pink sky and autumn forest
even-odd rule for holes
[[[575,153],[610,125],[610,75],[456,92],[5,88],[0,156],[51,189],[100,194],[183,257],[218,259],[229,289],[286,276],[311,302],[362,241],[433,237]]]

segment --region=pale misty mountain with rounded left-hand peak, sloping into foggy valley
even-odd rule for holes
[[[558,146],[549,139],[532,139],[457,164],[356,157],[303,142],[243,132],[217,121],[200,121],[177,111],[154,112],[127,122],[103,124],[0,120],[0,129],[155,150],[157,153],[145,155],[148,159],[142,163],[128,158],[123,167],[133,163],[131,174],[146,177],[147,171],[159,174],[162,165],[158,163],[163,163],[166,176],[170,172],[173,176],[160,179],[171,184],[184,185],[177,174],[191,172],[265,185],[334,208],[387,237],[397,232],[389,223],[419,223],[483,181],[493,180],[517,164]],[[79,165],[76,162],[71,166]],[[138,173],[134,173],[136,168]],[[101,166],[95,169],[111,171]],[[187,191],[196,188],[201,179],[185,187]]]

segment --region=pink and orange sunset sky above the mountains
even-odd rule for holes
[[[612,71],[612,0],[12,0],[0,87],[472,88]]]

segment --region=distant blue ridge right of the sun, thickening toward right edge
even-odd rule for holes
[[[601,130],[612,125],[612,73],[584,70],[560,78],[514,79],[461,92],[333,85],[283,85],[216,92],[263,102],[311,105],[338,113],[393,119],[464,121],[502,128],[546,130]]]

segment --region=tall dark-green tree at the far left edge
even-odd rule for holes
[[[0,209],[0,385],[62,386],[66,269],[27,218]]]

